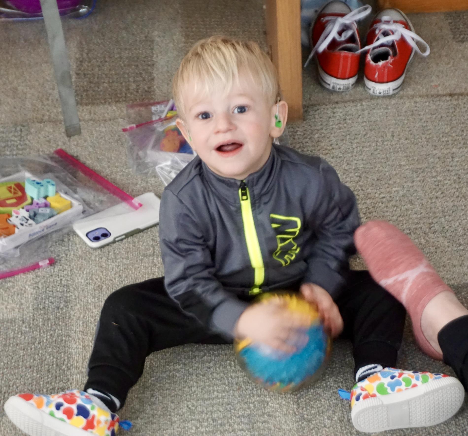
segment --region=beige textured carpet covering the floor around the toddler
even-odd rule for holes
[[[358,196],[363,220],[384,218],[416,241],[468,305],[468,13],[410,15],[431,46],[415,57],[400,94],[377,99],[362,80],[348,94],[304,71],[304,121],[292,146],[317,153]],[[0,23],[0,155],[62,147],[132,195],[157,178],[132,174],[126,103],[169,97],[183,53],[212,34],[264,46],[262,0],[99,0],[95,13],[64,21],[82,135],[68,139],[42,22]],[[92,251],[70,233],[52,247],[53,268],[0,282],[0,404],[17,392],[81,388],[95,323],[110,292],[163,274],[157,228]],[[362,266],[356,260],[355,266]],[[238,368],[229,346],[184,346],[150,356],[123,419],[129,435],[355,435],[349,404],[352,358],[337,342],[322,379],[296,394],[268,393]],[[424,356],[407,327],[399,366],[450,369]],[[453,419],[392,435],[465,435],[466,404]],[[19,436],[3,410],[0,436]]]

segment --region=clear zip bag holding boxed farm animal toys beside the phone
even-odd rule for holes
[[[0,160],[0,278],[53,262],[53,247],[75,221],[138,200],[65,151]]]

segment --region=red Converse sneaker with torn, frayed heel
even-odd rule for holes
[[[416,45],[424,44],[421,52]],[[429,45],[414,33],[408,17],[398,9],[384,9],[377,14],[367,33],[364,81],[373,95],[392,95],[398,92],[405,78],[409,61],[417,51],[429,55]]]

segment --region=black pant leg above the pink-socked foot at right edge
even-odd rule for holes
[[[444,362],[451,366],[468,391],[468,315],[450,321],[437,335]]]

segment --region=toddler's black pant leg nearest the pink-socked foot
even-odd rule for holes
[[[403,337],[406,311],[368,271],[351,271],[336,300],[344,322],[341,337],[353,345],[354,373],[368,364],[394,367]]]

